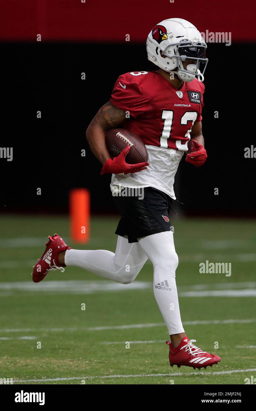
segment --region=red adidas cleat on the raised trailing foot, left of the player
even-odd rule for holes
[[[63,266],[60,266],[58,262],[58,254],[61,251],[70,250],[71,247],[68,247],[58,234],[54,234],[53,237],[49,236],[48,238],[49,241],[45,243],[46,249],[44,254],[41,259],[37,261],[32,272],[34,282],[42,281],[51,270],[58,269],[61,270],[61,272],[65,271]]]

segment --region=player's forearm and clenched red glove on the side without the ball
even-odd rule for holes
[[[202,134],[202,122],[195,122],[190,132],[191,149],[188,151],[186,161],[196,167],[200,167],[207,159],[206,150],[204,148],[205,141]]]

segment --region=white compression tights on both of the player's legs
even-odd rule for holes
[[[154,268],[154,295],[170,335],[184,332],[180,318],[175,270],[178,256],[173,233],[164,231],[129,243],[118,236],[115,253],[107,250],[67,250],[65,265],[85,268],[101,277],[129,284],[147,259]]]

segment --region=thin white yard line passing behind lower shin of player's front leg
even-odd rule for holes
[[[243,319],[243,320],[196,320],[196,321],[183,321],[185,326],[196,325],[211,325],[211,324],[250,324],[255,323],[256,319]],[[152,327],[165,327],[165,323],[144,323],[144,324],[128,324],[123,326],[101,326],[101,327],[62,327],[62,328],[2,328],[0,332],[63,332],[63,331],[101,331],[101,330],[126,330],[129,328],[152,328]]]

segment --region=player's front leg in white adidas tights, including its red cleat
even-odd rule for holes
[[[219,356],[195,346],[196,340],[189,340],[182,327],[175,282],[178,256],[175,252],[173,233],[155,233],[138,241],[154,266],[154,294],[171,337],[171,342],[166,342],[169,345],[171,367],[186,365],[201,369],[219,363]]]

